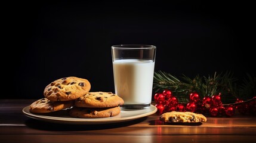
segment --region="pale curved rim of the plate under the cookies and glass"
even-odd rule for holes
[[[23,114],[27,117],[42,120],[45,122],[52,122],[52,123],[65,123],[65,124],[105,124],[105,123],[118,123],[118,122],[128,122],[130,120],[139,119],[142,117],[149,116],[151,114],[156,113],[157,108],[155,105],[150,104],[149,108],[141,109],[142,110],[149,110],[143,114],[137,114],[135,116],[128,116],[128,117],[107,117],[107,118],[97,118],[97,119],[82,119],[82,118],[74,118],[74,117],[55,117],[55,116],[45,116],[40,114],[33,114],[29,111],[29,105],[22,109]],[[120,114],[129,113],[131,111],[138,111],[138,110],[121,110]],[[112,119],[110,119],[112,118]],[[73,119],[73,120],[70,120]]]

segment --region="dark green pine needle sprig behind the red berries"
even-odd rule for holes
[[[157,71],[154,74],[153,90],[162,92],[169,89],[180,102],[188,102],[189,94],[197,92],[201,98],[221,94],[223,104],[230,104],[240,100],[249,100],[256,96],[256,77],[247,74],[247,79],[243,80],[242,85],[238,85],[238,79],[233,77],[233,73],[215,72],[209,76],[199,76],[194,78],[183,74],[180,78]]]

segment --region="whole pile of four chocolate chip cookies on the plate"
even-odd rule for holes
[[[64,77],[51,82],[44,89],[44,98],[30,105],[31,113],[50,113],[70,108],[72,117],[103,118],[121,113],[124,100],[112,92],[89,92],[87,79]]]

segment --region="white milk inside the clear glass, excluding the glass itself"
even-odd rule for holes
[[[127,104],[150,104],[155,62],[152,60],[115,60],[115,94]]]

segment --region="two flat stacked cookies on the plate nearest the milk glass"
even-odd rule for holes
[[[124,100],[112,92],[89,92],[75,100],[70,116],[79,118],[103,118],[116,116],[121,112]]]

